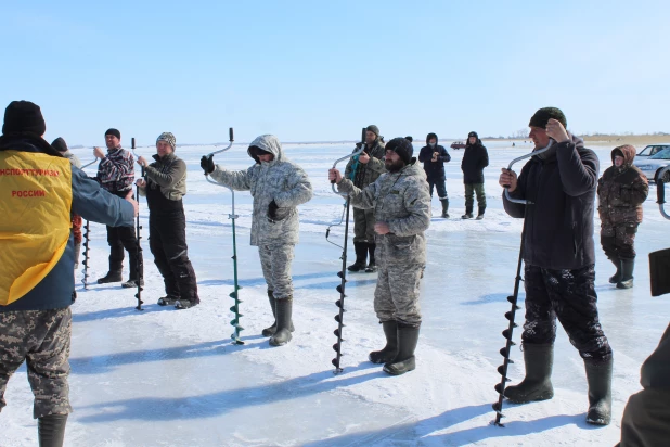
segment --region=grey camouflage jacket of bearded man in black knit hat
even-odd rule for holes
[[[347,192],[351,205],[374,209],[375,221],[386,222],[390,232],[376,234],[377,244],[386,245],[384,252],[391,254],[388,264],[426,261],[424,231],[430,225],[430,194],[426,174],[416,164],[416,158],[398,173],[385,173],[365,189],[359,189],[344,179],[337,186]]]

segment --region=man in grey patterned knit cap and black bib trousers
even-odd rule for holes
[[[146,180],[138,179],[140,195],[149,205],[149,247],[163,276],[166,296],[159,306],[188,309],[199,304],[197,280],[189,259],[186,217],[181,197],[186,195],[186,164],[175,154],[177,139],[163,132],[156,139],[154,163],[140,156]]]

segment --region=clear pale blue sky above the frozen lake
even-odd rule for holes
[[[555,105],[576,133],[670,131],[667,1],[13,1],[0,105],[47,140],[129,145],[508,136]]]

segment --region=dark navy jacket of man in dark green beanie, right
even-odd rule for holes
[[[547,269],[579,269],[595,264],[593,212],[598,158],[583,146],[583,140],[554,143],[544,161],[530,158],[521,169],[514,199],[528,205],[524,261]],[[527,205],[503,205],[512,217],[524,217]]]

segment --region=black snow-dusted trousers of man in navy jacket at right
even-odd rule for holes
[[[582,358],[608,360],[609,342],[601,328],[594,266],[576,270],[549,270],[525,266],[526,322],[521,340],[552,344],[556,317]]]

